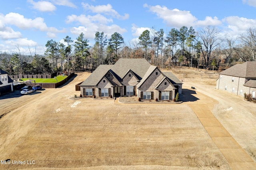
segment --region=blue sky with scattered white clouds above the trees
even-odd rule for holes
[[[94,45],[96,32],[118,32],[129,46],[144,30],[216,26],[236,38],[256,27],[256,0],[9,0],[0,6],[0,52],[43,55],[48,40]]]

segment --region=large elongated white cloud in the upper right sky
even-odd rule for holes
[[[149,11],[156,14],[159,18],[162,18],[166,25],[169,27],[181,28],[182,26],[217,26],[222,24],[217,17],[206,16],[205,20],[198,20],[193,16],[190,11],[181,11],[178,9],[170,10],[166,6],[148,6],[144,4],[145,8],[149,8]]]

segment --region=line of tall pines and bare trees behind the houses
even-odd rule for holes
[[[69,36],[63,40],[65,45],[48,40],[44,55],[21,55],[18,46],[19,53],[0,53],[0,68],[9,74],[45,74],[94,70],[101,64],[114,64],[119,58],[145,58],[159,67],[185,65],[206,69],[225,69],[238,61],[256,61],[256,28],[249,28],[236,38],[223,35],[213,26],[197,32],[193,27],[182,26],[166,33],[152,27],[128,44],[118,32],[109,39],[104,32],[96,32],[93,46],[89,46],[83,33],[76,40]]]

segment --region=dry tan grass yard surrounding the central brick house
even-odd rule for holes
[[[255,161],[256,105],[216,90],[215,74],[172,71],[183,89],[194,86],[217,101],[212,113]],[[6,114],[0,119],[0,160],[11,160],[0,169],[231,169],[188,106],[204,101],[71,100],[80,94],[75,85],[89,75],[78,73],[57,89],[0,96],[0,115]]]

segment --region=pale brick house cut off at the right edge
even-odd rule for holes
[[[234,93],[235,95],[252,94],[256,91],[256,61],[236,64],[222,72],[216,81],[216,89]]]

